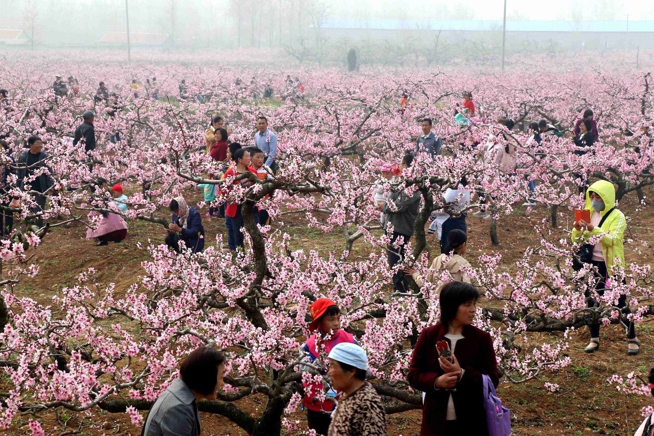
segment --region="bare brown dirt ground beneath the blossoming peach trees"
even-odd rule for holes
[[[646,191],[649,197],[652,190]],[[199,200],[199,198],[197,198]],[[651,262],[654,254],[654,234],[650,206],[638,206],[635,195],[630,194],[621,203],[620,209],[628,217],[628,230],[625,240],[627,263]],[[204,211],[202,211],[204,213]],[[515,270],[515,260],[521,257],[525,247],[538,243],[540,236],[533,230],[532,221],[540,222],[549,211],[543,206],[525,211],[516,206],[515,213],[498,221],[499,246],[492,246],[489,238],[489,221],[468,218],[468,255],[475,259],[482,253],[497,251],[502,253],[500,268]],[[553,231],[551,238],[568,237],[565,228],[570,228],[570,217],[564,211],[559,218],[560,228]],[[165,216],[162,211],[162,216]],[[214,235],[224,234],[224,220],[203,219],[207,244],[215,244]],[[334,247],[343,246],[342,234],[335,231],[323,235],[317,230],[304,227],[300,217],[284,217],[284,232],[292,236],[293,244],[304,248],[318,248],[327,252]],[[116,289],[124,290],[142,274],[141,262],[148,259],[148,253],[137,248],[137,242],[161,242],[165,236],[163,227],[143,221],[129,223],[128,239],[121,244],[95,247],[84,240],[85,230],[81,225],[59,227],[44,238],[37,250],[35,263],[41,265],[37,276],[24,280],[16,289],[21,296],[30,296],[48,304],[52,295],[62,287],[73,285],[80,272],[93,267],[100,280],[116,283]],[[428,241],[432,249],[438,247],[437,241]],[[354,255],[366,255],[367,246],[354,245]],[[436,248],[438,249],[438,248]],[[640,254],[636,253],[640,250]],[[545,334],[545,335],[549,335]],[[552,335],[560,336],[560,333]],[[511,410],[514,434],[521,435],[631,435],[640,424],[640,408],[653,404],[649,397],[627,397],[608,385],[606,379],[612,374],[627,374],[633,370],[644,373],[654,366],[654,320],[647,319],[638,325],[638,336],[643,343],[642,352],[635,357],[626,354],[627,344],[624,331],[617,325],[602,329],[602,346],[598,352],[587,355],[581,350],[587,344],[585,329],[572,333],[568,354],[572,358],[570,367],[555,374],[545,374],[537,380],[524,384],[502,383],[498,393],[506,407]],[[551,393],[543,384],[557,383],[560,391]],[[255,396],[238,402],[248,412],[256,415],[264,407],[264,398]],[[145,414],[145,412],[144,412]],[[22,435],[29,433],[29,416],[20,416],[6,434]],[[61,412],[39,414],[44,422],[67,422],[66,429],[77,429],[80,418],[84,416]],[[294,417],[305,425],[301,412]],[[202,414],[203,435],[245,435],[246,433],[222,416]],[[390,435],[418,435],[421,411],[411,410],[388,417]],[[139,435],[140,429],[129,424],[126,414],[110,414],[93,410],[79,428],[80,435]],[[58,434],[58,433],[53,433]]]

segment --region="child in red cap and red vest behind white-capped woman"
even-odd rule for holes
[[[353,335],[341,330],[341,310],[334,301],[317,299],[309,307],[309,312],[312,319],[309,331],[315,333],[301,346],[301,352],[306,355],[305,361],[313,363],[320,357],[320,361],[326,362],[326,356],[336,344],[341,342],[357,344]],[[328,398],[320,401],[317,395],[324,391],[322,383],[303,384],[303,386],[305,396],[302,404],[307,408],[309,429],[314,429],[318,435],[326,435],[334,411],[334,402],[329,398],[336,397],[337,392],[328,391]]]

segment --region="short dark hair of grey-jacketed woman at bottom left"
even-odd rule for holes
[[[186,356],[179,365],[179,376],[190,390],[209,395],[216,390],[218,367],[225,361],[225,355],[201,346]]]

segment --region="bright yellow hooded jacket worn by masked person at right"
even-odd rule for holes
[[[600,215],[604,214],[615,207],[615,189],[613,183],[606,180],[598,180],[586,191],[586,206],[585,209],[591,211],[593,215],[593,207],[591,206],[591,198],[589,192],[596,192],[602,197],[604,201],[604,210],[600,211]],[[625,250],[623,249],[623,239],[625,238],[625,228],[627,228],[627,221],[625,214],[615,209],[611,215],[602,223],[602,227],[595,227],[593,231],[577,230],[572,228],[572,242],[586,242],[591,236],[602,235],[600,242],[602,243],[602,253],[604,253],[604,261],[606,262],[606,270],[611,274],[611,268],[615,264],[615,258],[620,259],[620,264],[625,266]]]

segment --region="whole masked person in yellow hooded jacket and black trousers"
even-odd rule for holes
[[[575,223],[572,228],[572,242],[587,242],[592,236],[602,236],[593,246],[591,263],[598,278],[595,289],[598,294],[603,295],[606,279],[615,273],[613,267],[625,265],[623,239],[627,221],[625,214],[615,208],[615,188],[611,182],[606,180],[596,181],[586,191],[585,209],[591,211],[591,222],[586,223],[580,220]],[[600,226],[602,219],[604,222]],[[586,297],[589,296],[590,293],[587,292]],[[596,304],[596,301],[589,300],[589,307]],[[620,296],[617,307],[622,310],[623,316],[629,313],[627,295]],[[624,321],[629,326],[627,354],[636,355],[640,352],[640,341],[636,338],[634,323],[627,319]],[[591,330],[591,342],[583,351],[593,353],[600,347],[600,325],[589,325],[589,329]]]

